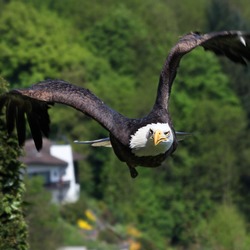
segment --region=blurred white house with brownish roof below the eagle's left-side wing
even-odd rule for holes
[[[70,145],[57,145],[43,139],[43,148],[37,152],[33,140],[27,140],[24,150],[25,155],[20,160],[27,165],[28,176],[44,178],[44,186],[51,191],[53,202],[79,199],[78,164]]]

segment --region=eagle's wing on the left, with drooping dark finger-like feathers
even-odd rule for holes
[[[49,134],[48,109],[53,103],[62,103],[85,113],[118,137],[126,124],[124,116],[109,108],[89,90],[62,80],[46,80],[27,89],[11,90],[0,97],[0,110],[6,106],[8,133],[16,127],[19,145],[23,145],[26,116],[36,148],[40,150],[42,136]]]

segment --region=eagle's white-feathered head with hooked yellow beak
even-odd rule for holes
[[[136,156],[156,156],[168,151],[173,141],[173,131],[168,123],[151,123],[131,136],[130,148]]]

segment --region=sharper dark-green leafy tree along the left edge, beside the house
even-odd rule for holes
[[[7,90],[0,78],[0,94]],[[27,225],[23,217],[24,166],[17,160],[21,151],[17,140],[7,136],[0,115],[0,249],[28,249]]]

